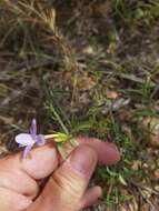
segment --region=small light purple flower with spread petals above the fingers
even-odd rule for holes
[[[19,147],[24,147],[23,158],[27,158],[34,144],[43,145],[46,143],[44,135],[37,134],[36,119],[32,120],[29,132],[30,133],[20,133],[16,137],[16,142],[19,143]]]

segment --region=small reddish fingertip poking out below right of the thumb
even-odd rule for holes
[[[101,197],[101,193],[102,191],[100,187],[93,187],[87,190],[81,199],[81,209],[97,203],[98,199]]]

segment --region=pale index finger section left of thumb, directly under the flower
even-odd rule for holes
[[[46,144],[33,149],[29,158],[21,159],[21,153],[4,158],[3,171],[26,172],[31,178],[39,180],[48,177],[58,165],[58,153],[54,144]],[[0,167],[0,170],[2,168]]]

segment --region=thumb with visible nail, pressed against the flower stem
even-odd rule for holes
[[[50,177],[46,188],[28,211],[77,211],[97,164],[96,151],[78,147]]]

